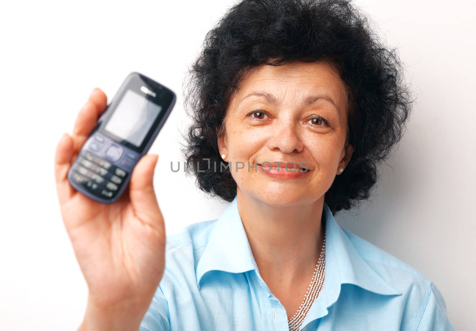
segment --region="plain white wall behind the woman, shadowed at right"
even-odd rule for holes
[[[87,287],[62,224],[54,151],[93,88],[108,101],[131,71],[178,102],[151,147],[168,233],[218,218],[170,162],[183,161],[182,82],[233,1],[5,1],[0,5],[0,329],[75,330]],[[474,1],[360,0],[397,46],[418,94],[372,203],[344,228],[414,266],[442,292],[456,330],[476,325]]]

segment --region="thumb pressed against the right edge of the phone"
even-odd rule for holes
[[[145,222],[154,222],[161,215],[153,185],[154,169],[158,158],[157,154],[142,156],[130,178],[130,203],[137,217]]]

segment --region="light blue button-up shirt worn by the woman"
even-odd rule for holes
[[[454,330],[432,281],[340,227],[327,204],[323,212],[324,283],[299,330]],[[164,275],[139,330],[289,330],[284,306],[259,274],[237,197],[218,220],[167,235]]]

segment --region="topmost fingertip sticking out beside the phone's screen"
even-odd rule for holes
[[[73,127],[73,136],[89,136],[107,106],[107,97],[99,88],[94,88],[88,101],[79,110]]]

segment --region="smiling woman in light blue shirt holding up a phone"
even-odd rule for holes
[[[80,330],[453,330],[435,284],[333,217],[368,198],[403,134],[402,70],[348,1],[232,7],[192,68],[184,149],[198,186],[231,203],[167,239],[157,156],[114,204],[66,179],[107,104],[95,89],[55,159],[89,287]]]

